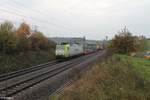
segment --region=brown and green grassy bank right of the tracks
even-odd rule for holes
[[[150,100],[150,61],[114,55],[66,87],[53,100]]]

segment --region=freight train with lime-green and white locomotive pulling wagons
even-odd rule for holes
[[[55,55],[57,58],[68,58],[76,55],[89,54],[100,50],[100,45],[98,44],[58,44],[56,45]]]

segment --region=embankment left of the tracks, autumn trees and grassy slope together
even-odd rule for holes
[[[48,62],[55,58],[55,43],[25,22],[15,27],[0,23],[0,74]]]

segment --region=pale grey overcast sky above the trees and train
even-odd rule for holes
[[[104,39],[127,28],[150,37],[150,0],[0,0],[0,22],[27,22],[49,37]]]

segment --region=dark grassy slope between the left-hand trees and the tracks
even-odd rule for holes
[[[0,74],[31,67],[55,59],[51,51],[28,51],[26,53],[0,54]]]

